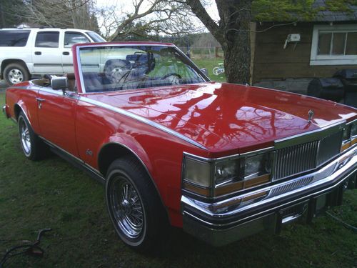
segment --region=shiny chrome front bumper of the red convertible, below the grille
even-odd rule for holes
[[[308,191],[309,189],[311,189],[313,187],[319,187],[319,186],[322,186],[323,184],[326,184],[328,182],[333,182],[335,179],[340,177],[344,172],[348,172],[348,174],[344,175],[344,177],[348,177],[350,174],[353,174],[353,172],[356,172],[356,168],[357,168],[356,167],[356,162],[357,162],[357,147],[355,146],[355,147],[353,147],[353,149],[349,150],[345,154],[342,154],[340,157],[338,157],[338,159],[334,160],[333,162],[328,164],[326,167],[323,167],[322,169],[318,170],[318,172],[313,172],[311,174],[307,174],[306,176],[294,179],[295,181],[298,181],[300,179],[305,179],[306,177],[312,177],[312,176],[316,177],[317,179],[315,179],[313,182],[311,182],[311,184],[308,184],[308,185],[306,185],[304,187],[301,187],[301,188],[298,188],[298,189],[293,189],[291,191],[279,194],[279,195],[277,195],[275,197],[262,199],[261,201],[258,201],[256,203],[248,204],[245,207],[238,207],[237,209],[228,210],[228,211],[222,212],[222,213],[212,212],[212,208],[214,206],[218,207],[218,205],[219,205],[219,207],[223,207],[223,208],[225,207],[225,208],[228,209],[228,204],[232,204],[234,202],[238,202],[238,200],[244,199],[245,197],[248,197],[248,196],[251,196],[251,195],[254,195],[254,194],[258,194],[258,193],[261,193],[261,192],[270,192],[271,190],[277,189],[278,187],[283,187],[284,184],[291,184],[291,183],[293,183],[293,181],[283,182],[281,184],[276,184],[276,185],[273,185],[273,186],[270,186],[270,187],[265,187],[263,189],[258,189],[256,191],[249,192],[248,194],[242,194],[240,196],[231,197],[230,199],[226,199],[226,200],[223,200],[221,202],[216,202],[216,203],[199,202],[199,201],[197,201],[195,199],[191,199],[190,197],[182,196],[181,197],[181,206],[183,206],[183,214],[185,213],[184,209],[187,206],[187,207],[191,207],[191,208],[195,209],[198,212],[206,214],[206,215],[208,215],[210,217],[215,217],[217,219],[231,217],[231,216],[239,214],[241,212],[245,212],[245,211],[247,211],[249,209],[253,209],[253,208],[256,208],[256,207],[261,207],[264,204],[268,204],[270,202],[274,202],[274,201],[276,201],[278,199],[283,199],[284,197],[288,197],[288,196],[290,196],[292,194],[298,194],[298,193],[301,193],[301,192],[304,192],[304,191]],[[341,164],[344,164],[343,167],[340,167]],[[328,172],[329,169],[333,169],[333,172],[330,175],[328,175],[327,177],[322,177],[321,174],[323,174],[323,172],[326,172],[326,171]],[[319,175],[321,177],[318,177]],[[329,189],[332,189],[333,187],[336,187],[336,185],[341,184],[341,182],[343,182],[343,179],[341,179],[336,184],[333,184],[331,187],[327,187],[327,188],[321,189],[318,192],[314,192],[312,194],[308,194],[308,195],[300,197],[298,199],[294,199],[293,201],[281,204],[278,207],[285,206],[286,204],[291,204],[293,202],[297,202],[297,201],[302,200],[302,199],[306,199],[306,198],[311,197],[311,196],[316,195],[316,194],[327,192]],[[225,206],[225,204],[227,204],[227,205]],[[278,207],[274,207],[272,209],[267,209],[267,210],[265,210],[263,212],[260,212],[258,214],[269,212],[269,211],[271,211],[273,209],[276,209]],[[246,217],[244,219],[249,219],[251,217],[257,217],[258,214]],[[244,220],[244,219],[241,219],[241,220]],[[237,222],[240,222],[241,220],[239,220]],[[229,224],[234,224],[234,223],[236,223],[236,222],[229,222]],[[212,224],[212,225],[218,226],[219,224]],[[222,226],[224,226],[224,225],[225,224],[223,224]]]

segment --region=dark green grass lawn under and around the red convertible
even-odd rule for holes
[[[343,206],[332,212],[356,226],[357,190],[346,192]],[[44,228],[53,229],[41,241],[44,257],[20,255],[6,267],[357,267],[356,232],[327,216],[221,248],[173,229],[161,256],[133,252],[111,227],[104,187],[59,157],[27,160],[16,125],[1,114],[0,259]]]

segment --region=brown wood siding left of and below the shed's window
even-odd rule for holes
[[[253,83],[266,79],[331,77],[338,69],[357,68],[356,65],[310,66],[312,23],[276,26],[262,32],[259,31],[270,24],[256,25]],[[296,46],[289,43],[283,49],[288,34],[301,34],[301,41]]]

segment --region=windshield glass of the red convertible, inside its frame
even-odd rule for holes
[[[206,81],[172,46],[85,46],[79,49],[85,92],[142,89]]]

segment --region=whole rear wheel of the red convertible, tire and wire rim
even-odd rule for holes
[[[39,160],[44,156],[45,144],[42,140],[34,133],[29,121],[23,111],[19,114],[19,135],[22,151],[30,160]]]

